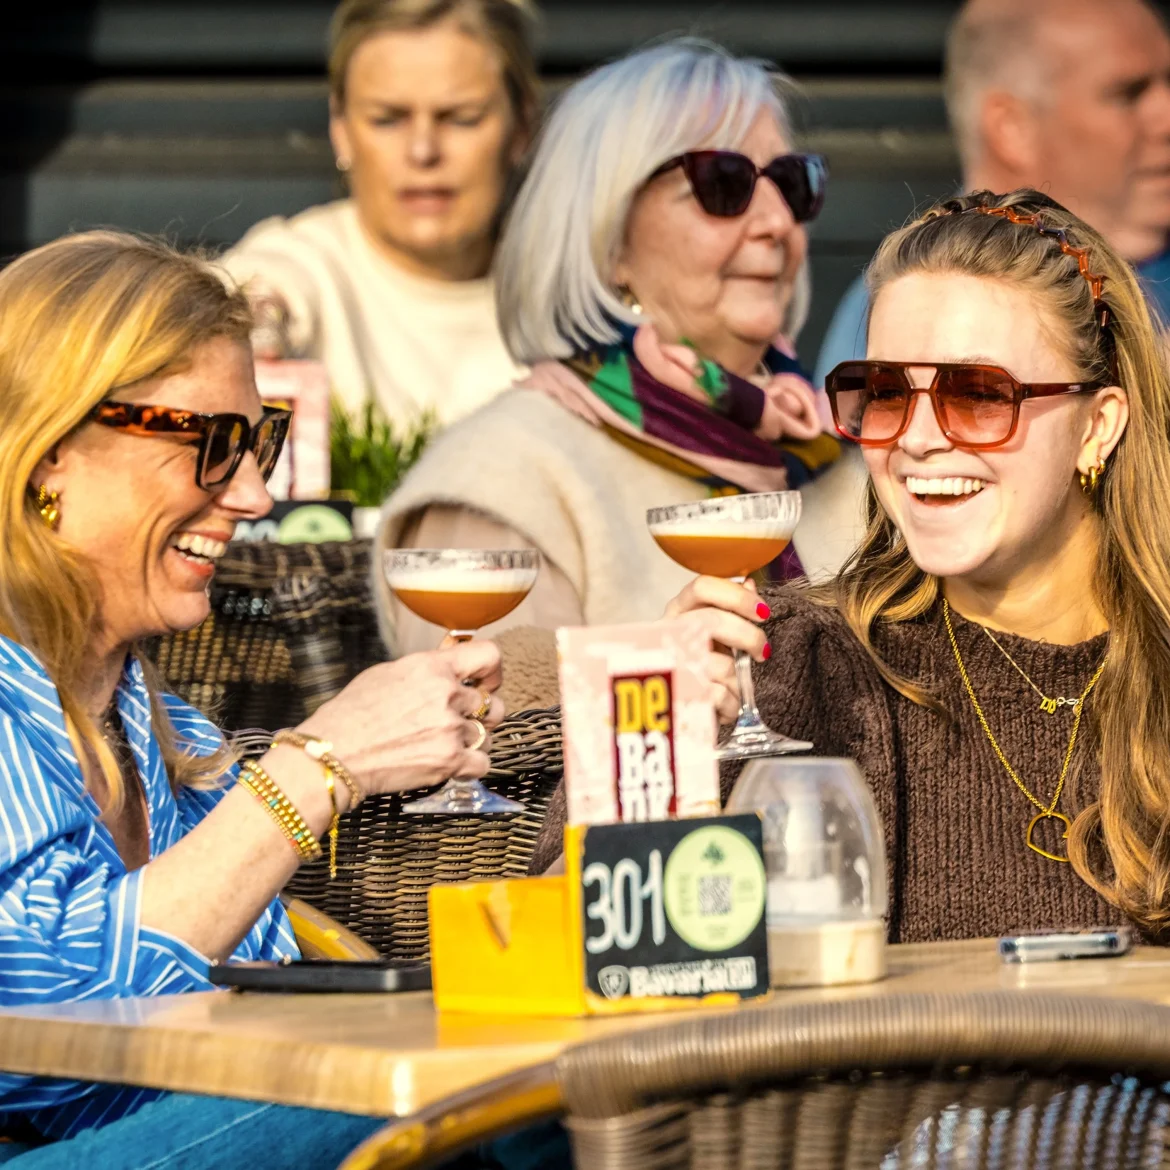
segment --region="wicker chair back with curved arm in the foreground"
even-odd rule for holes
[[[611,1035],[394,1122],[435,1165],[565,1113],[577,1170],[1170,1165],[1170,1009],[1039,992],[765,1005]],[[454,1107],[454,1108],[452,1108]]]

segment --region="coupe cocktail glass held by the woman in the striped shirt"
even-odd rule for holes
[[[383,565],[394,596],[424,621],[468,641],[481,626],[507,617],[536,583],[535,549],[392,549]],[[489,791],[480,780],[453,777],[402,812],[449,814],[523,812],[524,805]]]

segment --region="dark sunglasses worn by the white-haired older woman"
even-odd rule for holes
[[[693,150],[663,163],[651,179],[680,166],[698,206],[708,215],[725,219],[742,215],[762,174],[776,184],[798,223],[814,220],[825,204],[828,163],[824,154],[777,154],[765,166],[756,166],[738,151]]]

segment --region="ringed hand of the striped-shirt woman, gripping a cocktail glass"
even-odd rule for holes
[[[364,670],[297,730],[332,744],[367,796],[477,779],[491,739],[476,743],[473,720],[490,729],[503,718],[500,682],[495,642],[460,642]]]

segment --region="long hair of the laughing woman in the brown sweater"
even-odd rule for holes
[[[1088,252],[1106,277],[1108,330],[1095,319],[1076,261],[1034,227],[975,205],[1039,212]],[[1151,935],[1170,929],[1170,372],[1162,337],[1129,264],[1102,236],[1035,191],[949,200],[887,236],[869,267],[870,303],[907,273],[963,273],[1004,281],[1035,298],[1082,380],[1104,379],[1129,398],[1129,422],[1095,496],[1100,552],[1087,587],[1109,622],[1109,653],[1089,707],[1100,734],[1101,787],[1068,837],[1076,873]],[[1069,468],[1069,475],[1074,469]],[[925,613],[938,580],[910,559],[873,486],[869,525],[841,576],[814,591],[838,605],[890,686],[930,706],[937,700],[878,658],[873,629]]]

